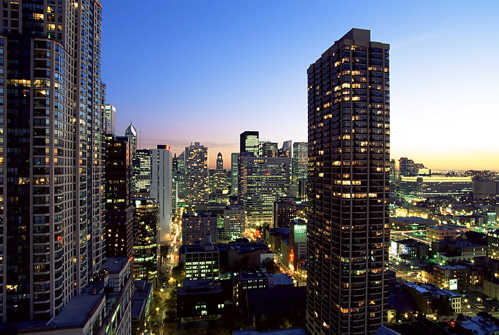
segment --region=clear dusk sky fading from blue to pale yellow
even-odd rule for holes
[[[246,130],[307,141],[306,70],[355,27],[390,44],[391,158],[499,170],[496,0],[101,1],[106,100],[141,148],[230,168]]]

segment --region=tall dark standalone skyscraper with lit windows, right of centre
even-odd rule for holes
[[[309,335],[386,323],[389,44],[352,29],[307,70]]]

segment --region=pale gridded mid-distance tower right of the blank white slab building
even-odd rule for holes
[[[187,204],[208,202],[208,148],[194,142],[185,149]]]

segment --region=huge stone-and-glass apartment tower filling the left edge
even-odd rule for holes
[[[2,322],[57,316],[105,261],[101,10],[3,2]]]

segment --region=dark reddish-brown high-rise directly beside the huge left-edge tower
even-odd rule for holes
[[[132,257],[132,148],[128,136],[106,135],[106,256]]]

